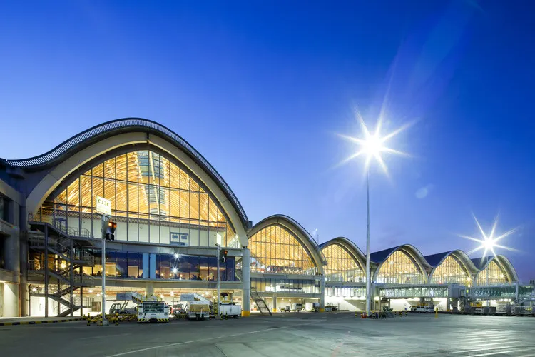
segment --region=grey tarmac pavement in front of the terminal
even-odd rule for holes
[[[224,321],[0,327],[2,356],[535,356],[535,318],[275,313]]]

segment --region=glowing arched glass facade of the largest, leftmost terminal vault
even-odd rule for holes
[[[223,209],[188,171],[153,151],[118,155],[93,166],[37,212],[41,221],[73,236],[101,234],[101,219],[93,214],[96,197],[111,201],[117,222],[116,240],[177,246],[239,248]]]

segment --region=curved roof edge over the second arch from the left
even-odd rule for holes
[[[275,214],[273,216],[266,217],[262,221],[256,223],[253,228],[251,228],[251,230],[248,232],[247,236],[248,238],[251,238],[263,228],[273,225],[281,226],[282,228],[287,229],[287,231],[292,232],[295,237],[297,237],[297,239],[300,241],[301,245],[306,248],[307,253],[310,254],[312,260],[317,266],[318,271],[321,274],[323,273],[323,266],[327,264],[327,261],[325,260],[325,257],[323,256],[322,252],[320,251],[320,247],[317,246],[316,242],[314,241],[314,238],[310,236],[310,233],[308,233],[308,231],[303,228],[300,223],[298,223],[297,221],[295,221],[295,219],[289,216],[285,216],[283,214]]]

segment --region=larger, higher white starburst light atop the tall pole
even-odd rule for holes
[[[347,136],[347,135],[342,135],[342,134],[339,134],[339,136],[342,137],[343,139],[347,139],[349,141],[359,144],[360,150],[358,150],[355,154],[352,154],[351,156],[342,160],[342,162],[340,162],[340,165],[345,164],[348,161],[351,161],[352,159],[356,159],[357,157],[364,154],[366,156],[365,172],[367,172],[370,166],[370,161],[372,160],[372,158],[374,158],[377,160],[379,165],[381,165],[382,169],[384,170],[384,173],[388,175],[387,165],[384,164],[381,154],[387,153],[387,154],[409,156],[409,154],[407,153],[389,148],[387,146],[387,141],[389,141],[394,136],[396,136],[397,134],[407,129],[410,125],[412,125],[412,123],[401,126],[399,129],[396,129],[389,134],[382,135],[381,134],[382,118],[379,118],[379,120],[377,121],[377,126],[375,127],[373,134],[370,132],[370,130],[368,130],[364,122],[364,119],[362,119],[362,116],[358,112],[357,112],[357,118],[360,122],[360,126],[362,128],[362,133],[364,134],[364,137],[355,138],[352,136]]]

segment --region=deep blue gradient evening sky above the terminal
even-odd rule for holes
[[[372,251],[424,255],[520,226],[535,278],[531,1],[2,1],[0,156],[41,154],[138,116],[190,141],[253,223],[284,213],[365,250],[355,108],[413,156],[371,174]],[[385,94],[389,89],[387,100]],[[427,191],[427,194],[417,194]],[[418,196],[420,198],[418,198]],[[422,198],[422,196],[424,196]],[[473,257],[477,256],[474,254]]]

